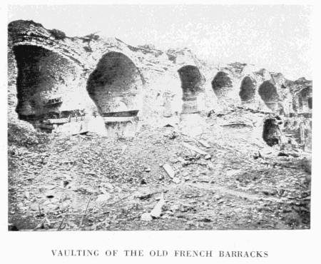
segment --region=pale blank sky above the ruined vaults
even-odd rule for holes
[[[311,7],[297,5],[9,6],[9,21],[34,20],[67,36],[97,32],[132,46],[187,47],[200,59],[255,64],[312,78]]]

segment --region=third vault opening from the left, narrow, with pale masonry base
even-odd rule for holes
[[[198,112],[198,95],[204,91],[205,77],[200,73],[198,67],[186,65],[178,69],[181,87],[183,90],[182,113]]]

